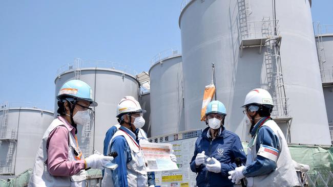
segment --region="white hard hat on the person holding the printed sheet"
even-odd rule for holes
[[[117,117],[124,113],[145,112],[141,109],[140,103],[132,96],[126,96],[120,100],[117,106]]]

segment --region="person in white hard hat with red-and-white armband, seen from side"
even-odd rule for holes
[[[247,186],[300,186],[286,139],[270,118],[273,99],[264,89],[247,93],[243,111],[251,126],[245,166],[228,172],[233,182],[246,177]]]

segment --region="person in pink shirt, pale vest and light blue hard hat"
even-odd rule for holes
[[[84,158],[77,143],[77,125],[90,121],[91,87],[80,80],[66,82],[57,95],[59,115],[43,135],[28,186],[86,186],[85,169],[102,169],[113,157]]]

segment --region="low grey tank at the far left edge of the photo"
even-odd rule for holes
[[[0,119],[0,175],[18,175],[33,168],[38,145],[54,119],[53,112],[3,107]]]

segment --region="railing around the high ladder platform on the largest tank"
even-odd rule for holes
[[[264,39],[279,36],[278,22],[279,20],[275,19],[242,22],[240,23],[241,39]]]

